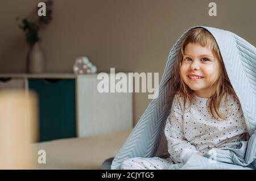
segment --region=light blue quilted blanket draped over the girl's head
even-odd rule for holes
[[[240,148],[215,149],[214,155],[202,157],[192,154],[186,163],[170,164],[167,169],[256,169],[256,48],[232,32],[212,27],[203,28],[212,33],[220,48],[226,72],[241,103],[250,139],[242,142]],[[170,91],[167,81],[174,68],[180,40],[185,33],[170,51],[159,85],[158,98],[150,102],[133,132],[115,155],[112,169],[119,169],[127,158],[163,156],[162,150],[167,150],[163,141],[163,128],[170,112],[163,108],[163,104]],[[171,102],[168,106],[171,106]]]

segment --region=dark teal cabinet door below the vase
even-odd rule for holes
[[[39,142],[76,137],[75,79],[28,78],[38,95]]]

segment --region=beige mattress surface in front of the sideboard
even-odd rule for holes
[[[118,153],[130,133],[131,130],[127,130],[34,144],[32,154],[35,169],[100,169],[105,159]],[[40,150],[46,153],[46,163],[39,163],[44,155],[44,151]]]

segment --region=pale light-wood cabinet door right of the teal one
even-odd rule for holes
[[[127,78],[130,85],[131,79]],[[77,77],[77,136],[94,136],[133,127],[133,94],[100,93],[97,75]]]

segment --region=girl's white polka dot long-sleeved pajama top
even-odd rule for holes
[[[226,120],[219,117],[216,120],[210,115],[207,100],[194,94],[189,110],[189,100],[184,107],[181,96],[174,96],[164,134],[175,163],[187,162],[192,153],[205,154],[212,148],[225,149],[246,140],[245,119],[238,98],[229,95],[221,100],[219,110]]]

